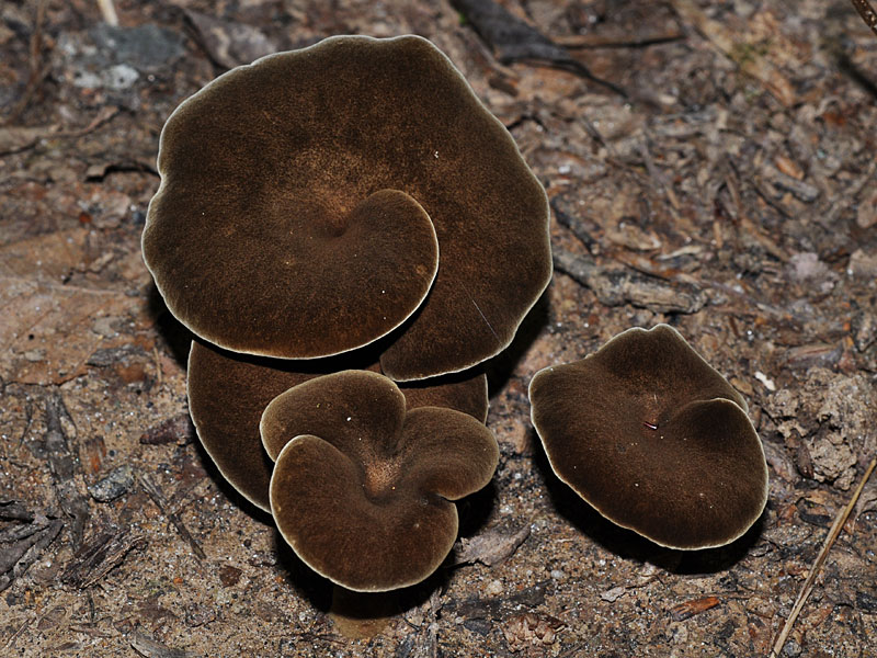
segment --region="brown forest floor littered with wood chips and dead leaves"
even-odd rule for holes
[[[511,0],[558,46],[514,60],[466,4],[116,0],[118,29],[88,0],[0,5],[0,655],[767,656],[877,451],[877,37],[845,0]],[[458,547],[367,639],[201,450],[191,334],[139,242],[183,99],[352,33],[451,57],[545,185],[556,264],[487,364],[500,464],[459,506],[511,554]],[[603,520],[529,423],[536,371],[658,322],[764,443],[767,508],[724,548]],[[784,656],[877,655],[875,479]]]

